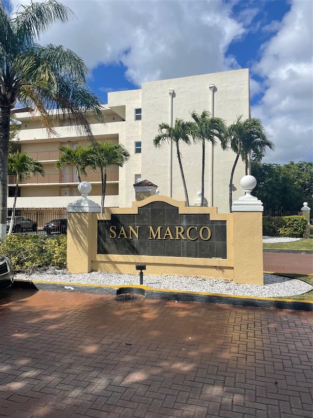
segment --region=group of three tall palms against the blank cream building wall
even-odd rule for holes
[[[256,161],[261,161],[266,148],[274,149],[274,145],[268,140],[260,119],[250,118],[243,121],[242,116],[239,116],[236,122],[227,127],[223,119],[212,117],[206,110],[203,110],[200,115],[195,111],[191,112],[190,115],[192,122],[176,119],[174,126],[170,126],[168,123],[159,124],[154,145],[159,148],[164,143],[172,142],[175,144],[187,206],[189,206],[189,198],[179,144],[191,145],[192,141],[201,144],[201,206],[204,205],[205,145],[210,143],[212,147],[215,147],[219,141],[224,150],[227,148],[233,150],[236,153],[236,158],[231,169],[229,182],[229,211],[231,212],[233,176],[239,157],[245,162],[247,174],[250,155]]]

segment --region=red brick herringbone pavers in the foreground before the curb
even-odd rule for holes
[[[11,289],[0,417],[312,417],[312,313]]]

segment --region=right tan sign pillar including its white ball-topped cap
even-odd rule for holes
[[[263,204],[251,196],[256,186],[252,175],[245,175],[240,185],[245,195],[233,202],[234,281],[263,285]]]

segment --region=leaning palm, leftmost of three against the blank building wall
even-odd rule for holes
[[[181,180],[184,188],[185,193],[185,200],[187,206],[189,206],[189,198],[187,192],[187,186],[185,181],[184,172],[182,169],[181,164],[181,155],[179,150],[179,142],[183,142],[184,144],[190,145],[190,137],[193,132],[193,123],[192,122],[184,122],[182,119],[176,119],[175,125],[170,126],[168,123],[161,123],[158,125],[158,135],[156,135],[155,139],[153,140],[154,146],[156,148],[160,148],[165,142],[174,142],[176,145],[177,151],[177,158],[179,163],[179,169],[181,174]]]

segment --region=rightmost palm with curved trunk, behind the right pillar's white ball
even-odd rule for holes
[[[230,149],[236,153],[229,181],[229,212],[231,212],[233,177],[239,157],[241,156],[246,163],[247,173],[250,152],[254,152],[260,158],[265,155],[266,147],[274,149],[274,145],[268,140],[260,119],[251,118],[242,121],[242,115],[237,118],[236,122],[228,126],[227,141]]]

